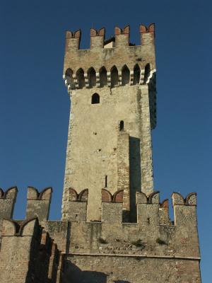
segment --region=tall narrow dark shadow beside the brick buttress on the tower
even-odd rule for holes
[[[140,139],[129,137],[129,185],[131,222],[136,222],[136,191],[141,190]]]

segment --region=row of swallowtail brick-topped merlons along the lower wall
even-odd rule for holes
[[[6,212],[1,210],[0,218],[12,219],[11,207],[16,201],[17,187],[11,187],[6,192],[1,190],[0,200],[13,200],[8,202]],[[69,188],[69,206],[67,207],[64,220],[73,222],[86,222],[86,210],[88,202],[89,190],[85,189],[77,193],[73,188]],[[47,187],[41,192],[38,192],[35,187],[28,187],[28,202],[26,209],[26,219],[38,218],[40,221],[47,221],[49,216],[49,207],[52,197],[52,187]],[[124,202],[124,190],[118,190],[112,195],[109,190],[102,189],[102,221],[112,222],[117,215],[117,223],[122,224],[122,212]],[[1,207],[4,207],[3,205]],[[137,224],[153,224],[163,225],[163,217],[166,215],[166,220],[169,219],[168,200],[160,203],[160,192],[155,191],[150,195],[143,192],[136,192],[136,207],[137,207]],[[183,198],[178,192],[172,194],[172,207],[174,208],[174,221],[166,221],[166,225],[182,226],[194,224],[196,226],[196,193],[192,192]],[[8,211],[10,212],[8,214]],[[161,215],[163,213],[163,215]],[[107,215],[107,217],[106,217]],[[108,219],[108,215],[111,219]],[[99,222],[99,221],[98,221]],[[23,227],[27,221],[20,222],[17,225],[13,224],[14,233],[22,233]]]

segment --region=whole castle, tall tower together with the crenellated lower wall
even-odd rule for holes
[[[24,220],[13,220],[17,187],[0,188],[0,282],[201,283],[196,193],[153,191],[154,25],[66,33],[71,97],[62,220],[49,220],[52,187],[28,187]]]

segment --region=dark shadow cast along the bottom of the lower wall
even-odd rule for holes
[[[64,262],[64,274],[66,278],[63,282],[66,283],[131,283],[124,280],[113,281],[104,272],[83,271],[69,260]]]

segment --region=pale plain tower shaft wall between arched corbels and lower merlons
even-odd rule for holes
[[[91,104],[91,96],[95,92],[100,94],[99,104]],[[101,90],[86,88],[72,92],[63,219],[66,219],[68,213],[69,187],[77,192],[88,188],[88,220],[100,219],[101,190],[105,187],[105,176],[107,190],[112,194],[118,190],[117,138],[119,122],[122,120],[124,130],[129,132],[131,207],[135,210],[136,190],[143,187],[144,192],[153,191],[148,113],[147,86],[122,86]]]

